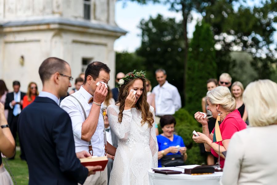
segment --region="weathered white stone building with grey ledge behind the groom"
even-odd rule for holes
[[[38,69],[47,57],[71,66],[72,77],[92,61],[111,69],[115,81],[114,41],[126,31],[114,20],[116,0],[0,0],[0,79],[12,90],[19,80],[26,91],[35,81],[42,90]],[[74,87],[74,81],[71,83]]]

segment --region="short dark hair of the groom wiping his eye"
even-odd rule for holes
[[[100,71],[102,71],[102,70],[107,73],[111,72],[111,70],[107,66],[107,64],[104,64],[102,62],[95,61],[95,62],[88,64],[88,67],[85,72],[84,84],[87,82],[88,75],[92,76],[93,80],[96,80],[96,78],[98,78],[98,76],[99,76]]]

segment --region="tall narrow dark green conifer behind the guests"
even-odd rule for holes
[[[187,102],[185,108],[189,113],[194,114],[202,110],[201,100],[207,92],[207,80],[217,78],[214,35],[210,24],[204,21],[195,26],[193,39],[189,43],[187,67]]]

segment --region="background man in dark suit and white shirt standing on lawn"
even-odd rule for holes
[[[13,82],[14,92],[10,92],[6,96],[5,109],[9,110],[8,114],[8,124],[10,131],[13,134],[15,146],[16,146],[16,132],[17,132],[17,122],[19,114],[22,110],[23,97],[26,95],[25,92],[21,92],[19,81]],[[25,159],[24,155],[20,154],[20,158]],[[14,157],[10,158],[14,159]]]

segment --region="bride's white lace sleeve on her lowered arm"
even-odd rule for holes
[[[150,106],[150,111],[152,111],[154,123],[152,128],[150,129],[149,146],[150,146],[150,150],[152,151],[154,168],[157,168],[158,167],[158,142],[157,142],[156,128],[155,128],[155,112],[152,106]]]

